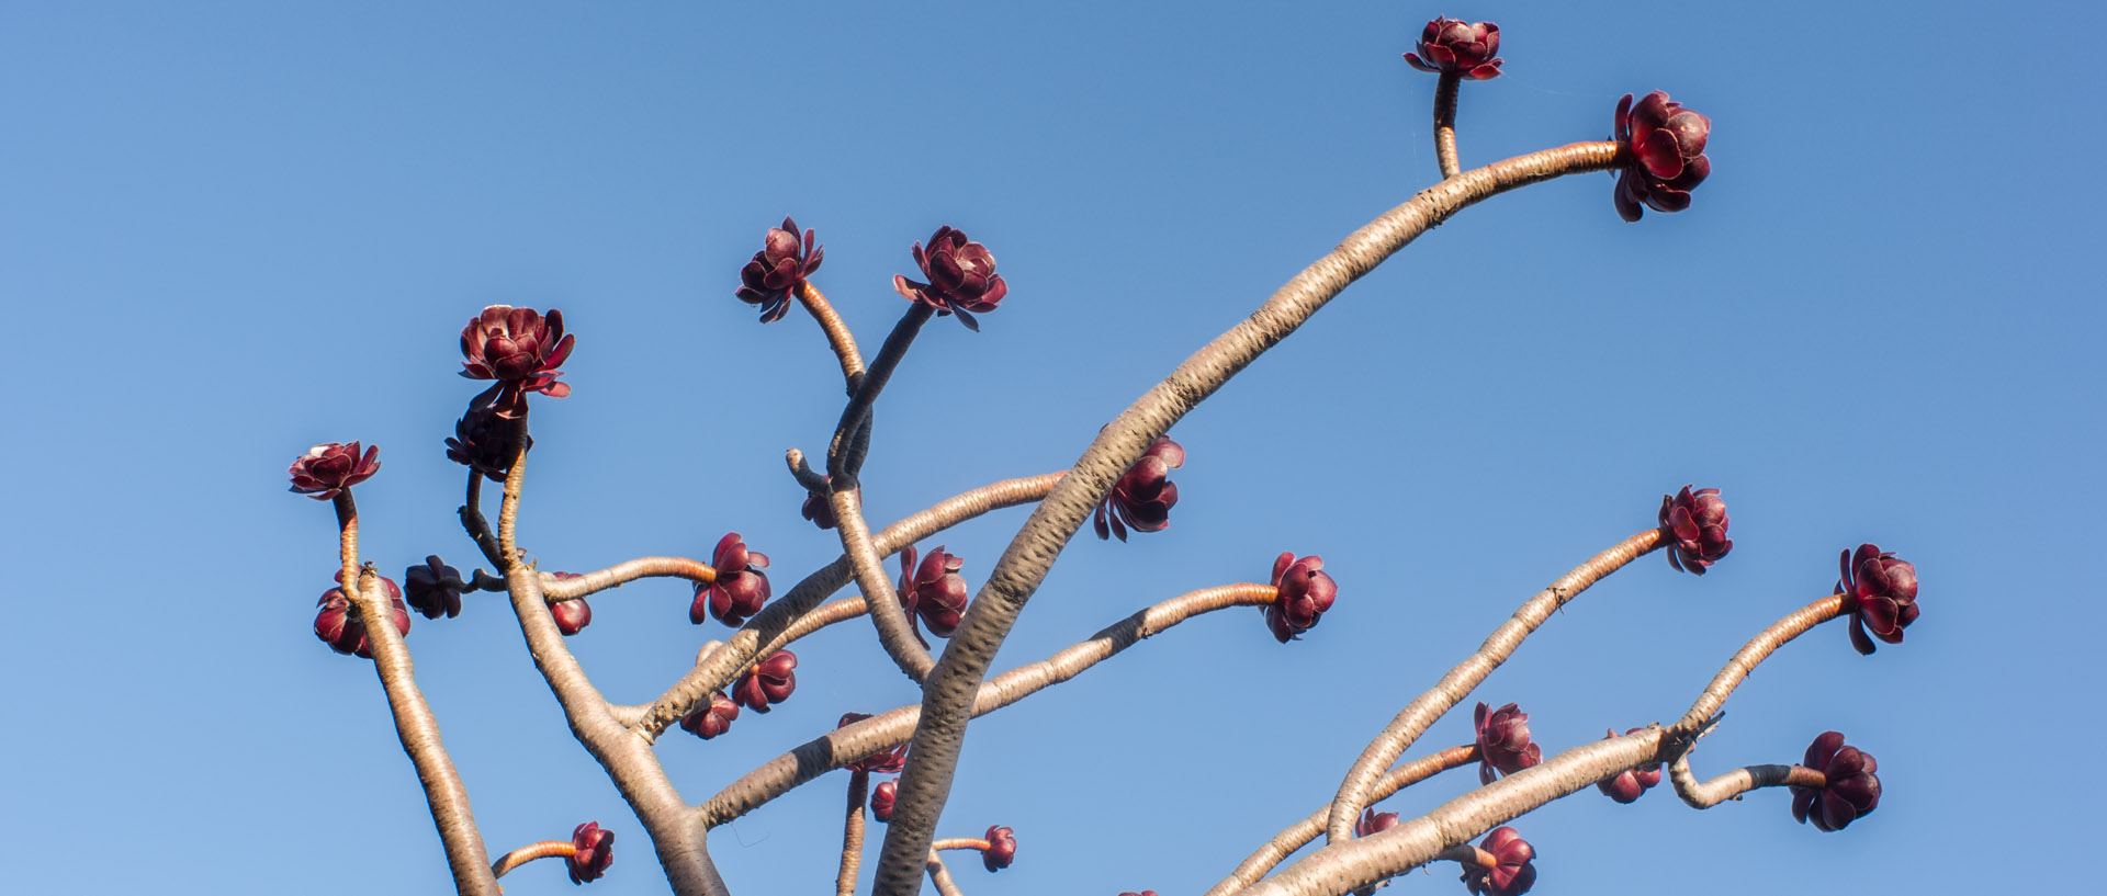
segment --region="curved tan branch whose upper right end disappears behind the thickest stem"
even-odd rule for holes
[[[923,541],[938,534],[950,526],[973,520],[982,513],[997,511],[1003,507],[1026,505],[1043,498],[1064,473],[1041,473],[1024,480],[1003,480],[988,486],[980,486],[971,492],[954,494],[921,513],[904,517],[872,538],[881,555],[891,555],[906,545]],[[773,604],[761,610],[754,618],[746,623],[737,633],[733,633],[725,648],[710,654],[708,663],[697,665],[681,681],[674,681],[641,719],[630,724],[643,738],[651,740],[672,728],[681,717],[693,713],[702,700],[710,698],[710,692],[725,688],[731,679],[740,677],[744,669],[750,669],[756,656],[765,656],[756,648],[788,629],[799,616],[811,612],[820,606],[826,595],[849,585],[849,557],[834,557],[832,564],[822,566],[805,581],[796,583],[790,593],[777,597]]]

